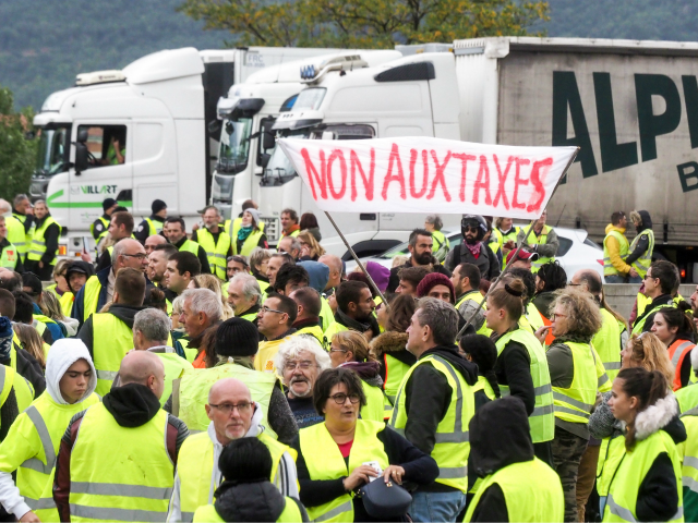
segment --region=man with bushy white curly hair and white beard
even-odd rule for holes
[[[330,367],[329,354],[309,337],[294,336],[276,353],[276,368],[282,373],[288,404],[299,429],[323,423],[324,416],[313,406],[313,386],[317,376]]]

